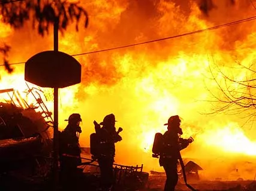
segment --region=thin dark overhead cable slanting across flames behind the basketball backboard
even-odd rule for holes
[[[124,46],[121,46],[121,47],[113,47],[113,48],[107,48],[107,49],[103,49],[103,50],[91,51],[91,52],[87,52],[87,53],[73,54],[73,55],[71,55],[71,56],[81,56],[81,55],[85,55],[85,54],[101,53],[101,52],[112,51],[112,50],[117,50],[117,49],[121,49],[121,48],[135,47],[135,46],[137,46],[137,45],[149,44],[149,43],[152,43],[152,42],[165,41],[165,40],[167,40],[167,39],[173,39],[173,38],[179,38],[179,37],[182,37],[182,36],[193,35],[193,34],[195,34],[195,33],[201,33],[201,32],[206,32],[206,31],[208,31],[208,30],[219,29],[219,28],[221,28],[221,27],[226,27],[226,26],[231,26],[231,25],[234,25],[234,24],[244,23],[244,22],[247,22],[247,21],[255,20],[255,19],[256,19],[256,16],[254,16],[254,17],[249,17],[249,18],[247,18],[247,19],[242,19],[242,20],[233,21],[233,22],[231,22],[231,23],[220,24],[220,25],[218,25],[218,26],[213,26],[213,27],[209,27],[209,28],[206,28],[206,29],[195,30],[195,31],[193,31],[193,32],[183,33],[183,34],[180,34],[180,35],[168,36],[168,37],[166,37],[166,38],[154,39],[154,40],[152,40],[152,41],[139,42],[139,43],[135,43],[135,44],[124,45]],[[14,64],[24,64],[24,63],[25,63],[25,62],[11,63],[10,65],[14,65]],[[2,64],[2,65],[0,65],[0,66],[5,66],[5,65]]]

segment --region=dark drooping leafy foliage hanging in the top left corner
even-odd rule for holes
[[[79,23],[84,18],[84,26],[88,26],[88,14],[78,3],[62,0],[1,0],[0,1],[1,21],[10,24],[14,29],[23,27],[23,24],[31,20],[32,26],[41,36],[49,33],[49,27],[55,22],[58,23],[59,31],[64,33],[68,25],[76,22],[76,30],[79,30]],[[10,45],[0,45],[4,66],[8,72],[13,69],[8,63],[8,52]]]

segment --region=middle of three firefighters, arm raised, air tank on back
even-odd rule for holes
[[[101,189],[111,190],[115,183],[113,174],[113,162],[115,158],[115,143],[122,140],[119,132],[116,131],[115,115],[105,116],[103,122],[98,124],[94,121],[95,133],[91,134],[91,154],[97,159],[101,171]],[[101,127],[103,125],[103,127]]]

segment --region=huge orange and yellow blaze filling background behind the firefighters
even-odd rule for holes
[[[104,50],[255,15],[252,5],[242,1],[235,4],[213,1],[214,6],[207,10],[199,2],[98,0],[84,3],[90,17],[89,28],[80,27],[77,33],[70,27],[65,35],[59,36],[59,50],[70,55]],[[94,132],[92,122],[101,122],[105,115],[114,113],[118,120],[116,127],[124,128],[123,140],[116,144],[116,162],[141,163],[147,171],[162,170],[151,156],[153,137],[157,132],[164,133],[164,124],[171,115],[180,115],[183,137],[195,139],[182,151],[183,156],[197,161],[207,178],[215,178],[217,174],[231,178],[228,174],[234,169],[231,168],[234,162],[238,164],[256,156],[255,130],[246,125],[242,128],[245,120],[239,115],[201,115],[200,112],[211,106],[200,100],[211,99],[209,90],[218,92],[216,83],[208,78],[212,75],[209,72],[212,64],[233,72],[236,79],[246,78],[246,73],[231,67],[237,60],[245,66],[254,62],[255,25],[255,21],[248,21],[137,47],[76,56],[82,64],[82,83],[59,90],[59,128],[65,128],[64,119],[71,113],[81,113],[80,142],[89,146],[89,135]],[[53,35],[41,38],[29,29],[29,24],[18,32],[2,23],[0,27],[1,38],[11,44],[12,63],[53,49]],[[11,75],[1,69],[0,87],[22,91],[26,88],[22,84],[24,66],[13,67],[15,71]],[[221,76],[218,74],[216,78]],[[53,110],[53,99],[47,101],[47,106]],[[209,161],[219,167],[225,161],[227,168],[217,173]],[[246,175],[253,178],[254,173]]]

